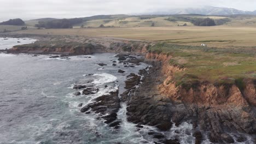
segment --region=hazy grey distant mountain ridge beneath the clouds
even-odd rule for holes
[[[179,15],[179,14],[200,14],[200,15],[256,15],[255,11],[243,11],[234,8],[201,7],[201,8],[177,8],[153,11],[148,14]]]

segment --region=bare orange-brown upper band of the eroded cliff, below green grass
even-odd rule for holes
[[[196,82],[189,89],[182,86],[176,87],[173,75],[185,69],[170,65],[168,62],[172,58],[171,56],[148,53],[146,57],[162,62],[161,71],[166,79],[159,85],[159,91],[174,101],[181,100],[187,104],[201,106],[256,106],[255,80],[243,80],[245,83],[244,89],[239,89],[235,84],[214,85],[214,83],[207,81]]]

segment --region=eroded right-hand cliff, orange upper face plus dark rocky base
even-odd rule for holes
[[[202,139],[245,142],[247,134],[255,137],[255,81],[243,80],[243,89],[235,84],[199,81],[188,89],[173,81],[173,74],[185,69],[170,65],[171,56],[148,53],[146,58],[155,62],[142,85],[129,95],[129,121],[156,125],[161,130],[170,129],[172,122],[191,122],[196,143]]]

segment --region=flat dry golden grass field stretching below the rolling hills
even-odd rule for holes
[[[85,35],[88,37],[117,37],[148,41],[166,41],[182,45],[207,44],[210,47],[254,47],[256,27],[124,27],[29,29],[15,33]]]

